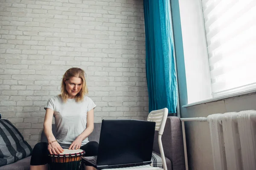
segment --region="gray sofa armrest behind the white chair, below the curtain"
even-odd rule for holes
[[[172,162],[172,170],[185,170],[182,127],[177,116],[167,117],[162,143],[165,157]],[[153,150],[160,153],[157,131],[154,136]]]

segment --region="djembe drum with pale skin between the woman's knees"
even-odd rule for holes
[[[64,149],[63,153],[58,155],[49,155],[50,170],[79,170],[81,164],[81,156],[84,155],[84,150]]]

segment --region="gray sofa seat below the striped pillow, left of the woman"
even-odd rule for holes
[[[8,164],[0,167],[0,170],[29,170],[30,169],[30,159],[31,156],[28,156],[24,159],[20,159],[13,164]]]

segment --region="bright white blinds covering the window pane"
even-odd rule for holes
[[[202,0],[213,97],[256,88],[256,0]]]

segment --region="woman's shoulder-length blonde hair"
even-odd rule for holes
[[[68,80],[71,77],[78,77],[78,78],[82,79],[82,88],[79,91],[79,93],[76,94],[75,99],[76,99],[76,102],[83,101],[84,95],[88,93],[84,74],[85,74],[84,70],[81,68],[70,68],[65,72],[65,74],[62,77],[62,82],[61,82],[61,94],[59,95],[59,96],[61,96],[63,102],[67,102],[67,99],[68,99],[68,92],[66,90],[66,83],[64,80],[65,79]]]

